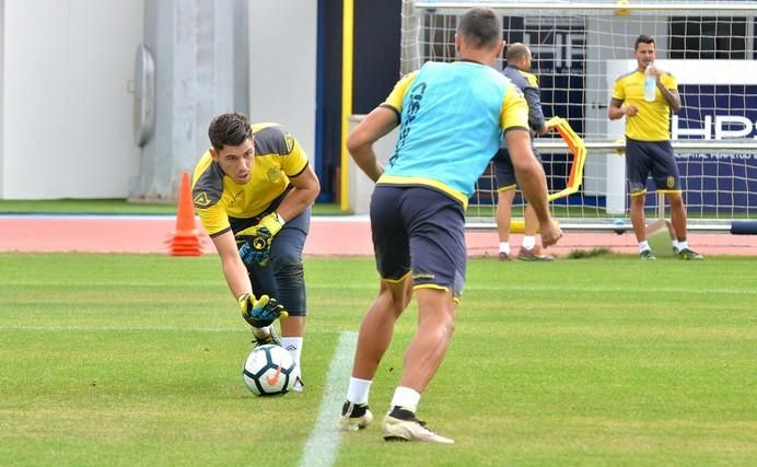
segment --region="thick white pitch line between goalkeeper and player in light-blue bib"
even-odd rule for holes
[[[326,375],[318,419],[315,421],[313,433],[307,439],[302,454],[300,463],[302,467],[330,467],[337,458],[341,439],[337,423],[347,394],[347,382],[352,370],[352,355],[357,345],[357,332],[339,335],[339,342]]]

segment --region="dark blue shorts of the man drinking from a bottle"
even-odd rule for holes
[[[631,196],[647,192],[647,178],[657,191],[680,191],[680,175],[669,141],[637,141],[626,139],[626,176]]]

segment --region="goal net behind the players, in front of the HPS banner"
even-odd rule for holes
[[[452,61],[459,16],[488,4],[502,17],[503,38],[533,54],[545,116],[559,116],[585,142],[580,189],[551,201],[563,226],[610,229],[628,217],[625,119],[609,121],[614,81],[636,69],[633,42],[655,39],[657,67],[678,80],[683,109],[671,135],[691,229],[727,229],[757,215],[757,1],[403,1],[401,70]],[[502,61],[496,67],[502,68]],[[536,139],[550,191],[566,187],[572,157],[559,135]],[[520,198],[520,199],[517,199]],[[516,198],[514,215],[523,208]],[[479,179],[468,221],[493,225],[497,186]],[[665,215],[651,180],[649,215]]]

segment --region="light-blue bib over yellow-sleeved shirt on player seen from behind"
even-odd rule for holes
[[[431,186],[464,206],[499,148],[500,128],[528,126],[520,90],[473,61],[426,63],[400,80],[382,107],[398,114],[401,128],[378,184]]]

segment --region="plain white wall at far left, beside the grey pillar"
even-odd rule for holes
[[[0,198],[123,198],[141,1],[7,0]]]

